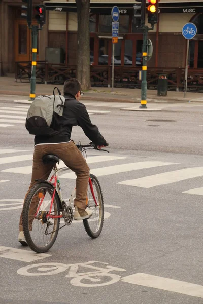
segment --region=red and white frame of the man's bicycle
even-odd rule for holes
[[[59,180],[59,177],[58,177],[58,172],[63,172],[63,171],[66,171],[66,170],[69,170],[69,168],[67,167],[63,167],[63,168],[60,168],[58,169],[57,166],[55,165],[54,168],[54,173],[53,175],[51,176],[49,182],[52,183],[53,187],[54,187],[54,191],[53,191],[53,194],[52,194],[52,199],[51,199],[51,205],[50,205],[50,209],[49,209],[49,213],[47,214],[47,218],[62,218],[63,215],[53,215],[51,214],[51,210],[52,210],[52,207],[53,207],[53,202],[54,202],[54,197],[55,197],[55,193],[57,191],[58,193],[58,196],[60,198],[60,201],[63,202],[63,198],[62,198],[62,192],[61,192],[61,187],[60,187],[60,180]],[[54,181],[53,181],[54,180]],[[52,182],[53,181],[53,182]],[[96,201],[96,198],[95,198],[95,195],[94,195],[94,189],[93,189],[93,185],[92,185],[92,181],[91,181],[91,178],[89,177],[89,186],[90,186],[90,190],[91,190],[91,194],[92,194],[92,197],[94,199],[94,202],[95,202],[95,206],[98,206],[97,204],[97,201]],[[73,192],[71,193],[71,196],[70,198],[68,199],[68,201],[66,202],[66,206],[69,207],[73,201],[73,198],[75,197],[75,192],[76,192],[76,188],[73,190]],[[40,201],[40,204],[38,206],[38,209],[35,213],[35,217],[37,216],[39,210],[40,210],[40,207],[43,203],[43,200],[44,200],[44,197],[45,195],[43,195],[43,197],[41,198],[41,201]]]

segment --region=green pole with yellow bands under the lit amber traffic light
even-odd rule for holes
[[[142,86],[141,86],[141,105],[140,109],[147,108],[147,34],[148,27],[144,26],[143,33],[143,77],[142,77]]]

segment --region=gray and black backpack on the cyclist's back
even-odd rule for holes
[[[54,94],[55,89],[59,95]],[[57,87],[54,90],[53,95],[40,95],[32,101],[26,118],[26,129],[29,134],[53,136],[63,128],[65,97],[61,96]]]

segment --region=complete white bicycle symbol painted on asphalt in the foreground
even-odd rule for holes
[[[95,263],[106,265],[106,268],[93,265]],[[80,273],[78,272],[79,268],[89,269],[90,271]],[[37,272],[33,272],[33,270]],[[123,268],[110,266],[108,263],[89,261],[78,264],[40,263],[22,267],[18,269],[17,273],[23,276],[51,276],[64,271],[69,271],[65,277],[72,278],[70,283],[73,286],[99,287],[114,284],[120,281],[120,275],[110,272],[124,272],[126,270]],[[87,281],[90,281],[91,283],[88,284]]]

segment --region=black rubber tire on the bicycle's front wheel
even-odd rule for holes
[[[98,201],[98,207],[93,207],[92,211],[93,214],[89,219],[84,219],[83,220],[83,225],[85,227],[85,231],[88,234],[89,237],[95,239],[97,238],[100,233],[101,230],[103,228],[103,223],[104,223],[104,199],[103,199],[103,193],[101,191],[101,186],[100,183],[97,179],[97,177],[93,174],[90,174],[90,178],[92,180],[92,185],[94,186],[94,184],[96,185],[96,191],[97,193],[94,193],[97,201]],[[88,185],[88,192],[87,192],[87,196],[91,196],[91,189]],[[88,197],[88,207],[87,208],[92,208],[90,207],[90,201],[93,201],[93,198]],[[92,222],[94,222],[94,218],[97,218],[98,216],[98,212],[96,211],[97,208],[99,208],[99,225],[97,225],[95,231],[93,230],[93,225],[91,224]]]

